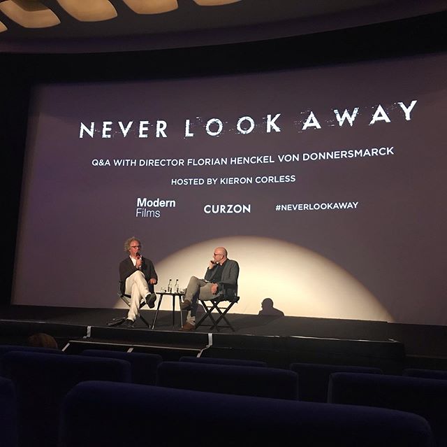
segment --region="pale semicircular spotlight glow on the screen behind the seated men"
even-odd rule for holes
[[[241,299],[233,313],[256,315],[261,301],[270,297],[288,316],[393,321],[385,306],[348,271],[312,250],[278,239],[224,237],[179,250],[157,263],[163,280],[156,290],[166,287],[166,278],[178,278],[180,288],[186,288],[191,276],[203,278],[218,246],[240,266]],[[268,274],[260,275],[260,269]],[[115,308],[125,307],[118,299]],[[172,310],[172,300],[163,299],[161,308]]]

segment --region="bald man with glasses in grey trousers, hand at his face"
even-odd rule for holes
[[[186,316],[186,323],[182,326],[182,331],[192,331],[196,329],[196,311],[198,300],[208,300],[219,296],[222,291],[222,283],[227,285],[227,291],[235,292],[237,289],[237,278],[239,276],[239,264],[228,259],[226,248],[217,247],[214,249],[213,259],[208,265],[205,278],[200,279],[191,276],[188,288],[184,295],[184,301],[180,306],[182,309],[189,309]],[[228,289],[230,285],[230,289]],[[231,289],[234,285],[234,289]]]

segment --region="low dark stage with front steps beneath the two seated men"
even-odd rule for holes
[[[2,306],[0,343],[24,343],[27,336],[45,332],[67,353],[87,348],[133,350],[178,360],[183,355],[264,360],[271,367],[292,362],[358,364],[400,374],[404,367],[447,369],[447,329],[383,321],[275,317],[229,313],[229,328],[199,327],[180,331],[171,311],[160,311],[154,329],[141,320],[133,329],[109,327],[124,309]],[[155,311],[141,311],[152,326]]]

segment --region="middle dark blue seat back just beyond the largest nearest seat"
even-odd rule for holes
[[[298,376],[277,368],[230,364],[162,362],[156,384],[184,390],[221,392],[233,395],[297,399]]]

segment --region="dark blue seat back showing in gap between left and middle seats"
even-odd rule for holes
[[[85,349],[81,355],[127,360],[131,364],[132,383],[140,383],[141,385],[155,385],[156,369],[163,361],[163,357],[159,354],[126,353],[104,349]]]

